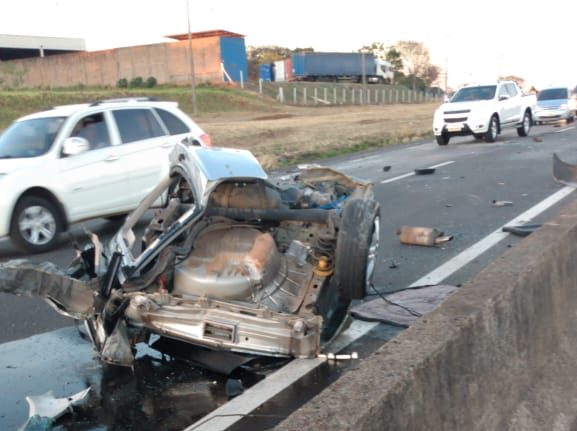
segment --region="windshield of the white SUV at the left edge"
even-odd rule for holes
[[[37,157],[52,147],[64,117],[17,121],[0,135],[0,159]]]

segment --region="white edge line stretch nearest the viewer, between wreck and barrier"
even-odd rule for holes
[[[330,344],[327,352],[336,353],[340,351],[343,347],[361,338],[378,324],[378,322],[354,320],[351,325]],[[295,359],[253,387],[247,389],[242,395],[233,398],[226,404],[223,404],[199,419],[186,428],[185,431],[225,430],[298,379],[317,368],[323,362],[325,362],[325,359],[320,358]]]

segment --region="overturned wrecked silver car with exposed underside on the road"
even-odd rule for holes
[[[67,269],[1,264],[0,291],[43,297],[83,321],[112,364],[130,366],[152,334],[313,357],[366,294],[379,217],[372,184],[338,171],[272,180],[248,151],[177,145],[170,175],[107,246],[92,235]]]

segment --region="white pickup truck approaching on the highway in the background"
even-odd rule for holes
[[[513,81],[468,85],[435,111],[433,132],[439,145],[452,136],[473,135],[495,142],[505,128],[515,127],[527,136],[533,124],[534,95],[525,95]]]

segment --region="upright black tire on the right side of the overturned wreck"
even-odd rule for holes
[[[379,203],[349,202],[341,215],[335,252],[333,285],[345,299],[363,299],[371,283],[379,244]]]

